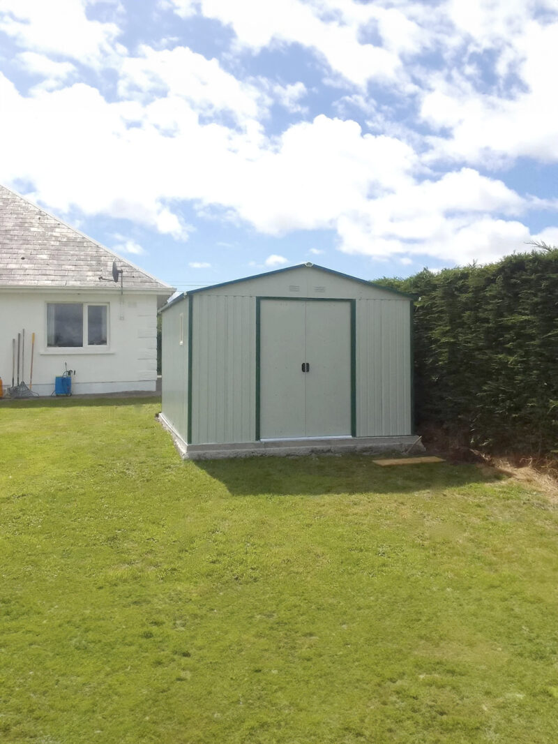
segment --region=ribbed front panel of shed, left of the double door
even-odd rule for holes
[[[252,442],[256,302],[193,295],[192,443]]]

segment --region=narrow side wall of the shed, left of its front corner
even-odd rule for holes
[[[181,317],[182,316],[182,317]],[[188,304],[177,302],[162,318],[162,411],[167,420],[187,439],[188,391]],[[181,343],[182,341],[182,343]]]

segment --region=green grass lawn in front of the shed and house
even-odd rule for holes
[[[473,465],[182,462],[0,407],[0,740],[555,743],[558,508]]]

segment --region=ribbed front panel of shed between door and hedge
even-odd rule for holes
[[[356,436],[411,434],[408,301],[356,302]]]

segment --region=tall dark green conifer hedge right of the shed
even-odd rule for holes
[[[384,283],[417,296],[417,425],[489,452],[558,452],[558,248]]]

